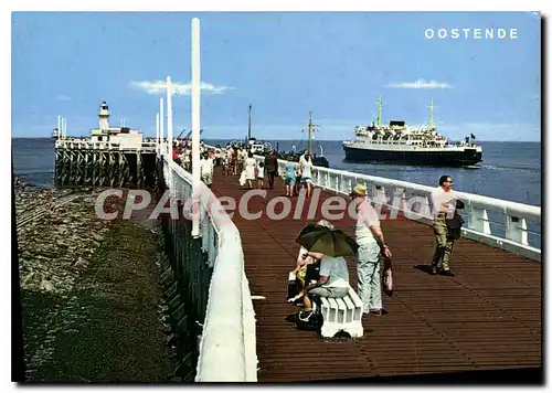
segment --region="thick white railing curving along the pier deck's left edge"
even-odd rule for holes
[[[163,172],[171,197],[191,216],[192,176],[169,159]],[[213,267],[203,322],[197,382],[256,382],[255,312],[244,269],[240,232],[213,192],[200,185],[200,233]]]

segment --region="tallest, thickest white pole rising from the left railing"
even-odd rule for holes
[[[194,195],[194,208],[198,214],[193,214],[192,236],[200,235],[200,20],[192,19],[192,190]]]

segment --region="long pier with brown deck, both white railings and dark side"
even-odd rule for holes
[[[195,34],[199,20],[192,21]],[[192,83],[195,99],[199,86]],[[192,116],[193,108],[199,111],[199,105],[192,105]],[[192,127],[197,155],[199,116]],[[170,197],[170,213],[163,214],[167,315],[184,380],[337,381],[510,370],[513,379],[526,372],[542,382],[540,208],[463,193],[467,223],[453,254],[456,276],[433,276],[425,272],[435,244],[424,210],[432,188],[315,167],[314,197],[300,202],[284,197],[283,160],[274,190],[254,194],[219,168],[209,189],[197,181],[197,166],[187,172],[168,149],[158,149],[157,160]],[[352,235],[351,216],[328,217],[322,208],[342,209],[337,197],[347,197],[355,183],[367,185],[386,215],[382,230],[393,252],[395,289],[383,298],[388,315],[363,317],[362,338],[327,340],[286,320],[296,310],[286,302],[288,273],[306,224],[323,217]],[[283,213],[287,208],[293,214]],[[357,289],[355,258],[348,265]],[[446,378],[466,382],[465,373]]]

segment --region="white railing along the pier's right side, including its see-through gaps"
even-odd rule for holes
[[[255,156],[258,160],[264,157]],[[285,173],[288,161],[278,159],[278,171]],[[343,170],[314,167],[312,183],[321,189],[348,195],[357,183],[364,184],[372,201],[390,208],[389,219],[399,212],[407,219],[431,223],[432,187],[379,178]],[[467,238],[541,261],[541,208],[495,198],[459,192],[465,203]]]

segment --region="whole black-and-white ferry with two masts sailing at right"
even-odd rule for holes
[[[408,127],[404,121],[391,120],[382,125],[382,99],[378,102],[378,125],[354,127],[355,139],[344,140],[346,161],[402,163],[438,167],[474,167],[482,161],[481,146],[475,136],[449,144],[437,134],[431,102],[429,126]]]

